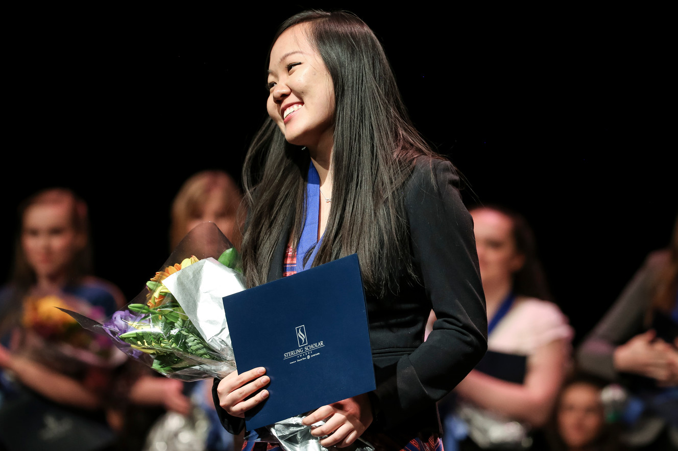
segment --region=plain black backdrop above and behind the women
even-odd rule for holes
[[[668,244],[678,190],[666,12],[59,7],[9,20],[2,274],[18,202],[67,186],[89,203],[96,273],[136,295],[169,255],[182,182],[212,168],[239,179],[266,114],[268,45],[307,7],[349,9],[374,29],[414,123],[466,178],[468,205],[527,217],[576,342]]]

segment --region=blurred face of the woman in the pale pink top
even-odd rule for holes
[[[510,281],[525,261],[515,246],[513,221],[490,209],[473,210],[471,216],[483,284]]]

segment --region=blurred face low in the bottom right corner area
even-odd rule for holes
[[[563,392],[557,412],[558,432],[570,448],[591,444],[604,424],[600,390],[578,383]]]

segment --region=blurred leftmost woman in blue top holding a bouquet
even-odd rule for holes
[[[55,308],[102,320],[124,304],[117,287],[91,275],[87,205],[51,188],[22,203],[19,221],[14,274],[0,291],[0,442],[11,448],[18,438],[32,449],[51,437],[44,449],[112,446],[108,387],[125,356]]]

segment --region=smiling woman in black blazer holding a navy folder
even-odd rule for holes
[[[243,168],[245,280],[256,286],[357,253],[377,385],[304,423],[326,420],[313,431],[323,446],[363,437],[378,449],[437,448],[436,402],[486,347],[458,175],[412,127],[381,44],[353,14],[288,19],[268,57],[270,117]],[[431,309],[438,320],[424,343]],[[232,433],[269,395],[264,368],[242,370],[214,386]]]

